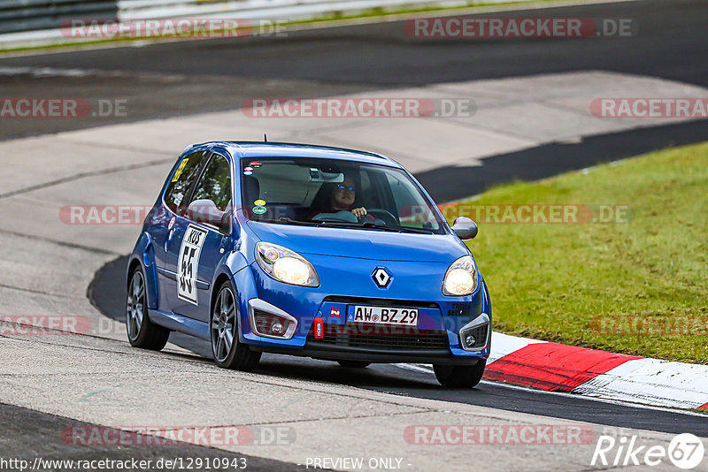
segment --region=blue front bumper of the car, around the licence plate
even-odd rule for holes
[[[491,306],[483,278],[480,277],[477,290],[466,297],[448,297],[442,292],[434,296],[431,292],[439,292],[437,278],[442,277],[440,274],[444,274],[446,265],[387,262],[387,269],[395,274],[395,279],[388,289],[383,290],[373,285],[369,278],[372,271],[369,266],[376,264],[373,261],[348,260],[349,277],[343,278],[343,274],[327,274],[327,268],[323,270],[323,264],[313,261],[316,258],[312,255],[308,258],[317,267],[323,281],[316,288],[282,284],[267,277],[256,264],[235,274],[242,303],[240,340],[243,343],[257,351],[327,360],[472,365],[489,357]],[[405,270],[402,270],[403,264]],[[358,268],[358,265],[362,267]],[[366,278],[358,280],[352,275],[357,273],[366,274]],[[335,275],[338,277],[333,277]],[[430,284],[434,277],[435,291]],[[339,283],[327,284],[331,280]],[[296,319],[296,329],[289,339],[259,336],[258,331],[252,329],[256,324],[251,308],[254,300],[258,300],[256,303],[266,311],[270,305],[273,312],[284,312]],[[386,333],[373,332],[370,326],[348,321],[355,305],[417,308],[418,327],[408,333],[391,332],[387,339]],[[479,324],[487,327],[483,342],[473,349],[463,348],[460,331],[469,329],[471,322],[479,321],[482,314],[485,314],[484,320]],[[315,318],[322,320],[324,339],[313,336]],[[352,328],[356,328],[353,334]],[[476,332],[479,337],[480,331]],[[431,342],[433,338],[435,342]]]

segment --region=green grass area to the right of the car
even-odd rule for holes
[[[708,143],[496,187],[472,203],[631,208],[628,223],[480,222],[469,246],[497,331],[708,363]]]

